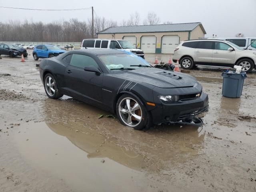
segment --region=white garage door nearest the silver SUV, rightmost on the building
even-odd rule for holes
[[[178,35],[165,35],[162,37],[162,53],[174,53],[175,48],[180,42]]]

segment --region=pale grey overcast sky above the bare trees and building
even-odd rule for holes
[[[121,22],[138,11],[141,23],[148,12],[154,11],[162,22],[202,22],[206,37],[234,37],[241,32],[256,37],[256,0],[0,0],[0,6],[36,9],[72,9],[94,7],[98,16]],[[87,20],[91,10],[34,11],[0,8],[0,22],[33,20],[51,22],[78,18]],[[1,32],[1,29],[0,29]]]

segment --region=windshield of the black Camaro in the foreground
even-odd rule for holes
[[[111,55],[99,55],[100,60],[106,65],[109,70],[120,69],[120,68],[133,68],[137,69],[141,66],[150,66],[141,57],[134,54],[111,54]],[[134,66],[138,65],[138,66]],[[139,66],[141,65],[141,66]]]

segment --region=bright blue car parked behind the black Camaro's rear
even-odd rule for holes
[[[55,45],[38,45],[33,50],[34,60],[39,58],[52,58],[66,52]]]

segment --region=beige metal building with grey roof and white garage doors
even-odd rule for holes
[[[124,39],[145,53],[174,53],[180,41],[204,38],[200,22],[109,27],[97,33],[98,38]]]

